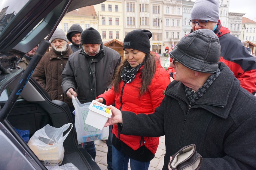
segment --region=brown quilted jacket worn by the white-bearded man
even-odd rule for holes
[[[68,49],[62,52],[56,51],[54,48],[46,52],[32,76],[52,100],[64,101],[71,107],[73,106],[72,99],[64,96],[61,86],[61,73],[66,66],[69,55],[73,53],[68,44],[67,47]]]

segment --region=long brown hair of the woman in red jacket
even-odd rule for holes
[[[147,92],[148,86],[150,85],[154,74],[157,69],[157,63],[160,62],[160,59],[158,56],[156,56],[154,53],[146,54],[144,59],[144,66],[142,68],[141,72],[141,88],[140,88],[140,94],[143,95]],[[121,79],[121,73],[125,66],[127,66],[129,63],[127,60],[123,60],[123,62],[117,67],[117,70],[114,74],[113,80],[111,82],[111,85],[114,85],[114,92],[120,93],[120,82]]]

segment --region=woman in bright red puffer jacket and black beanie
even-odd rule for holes
[[[150,51],[148,30],[129,32],[123,41],[125,58],[112,81],[112,89],[97,97],[106,105],[115,104],[119,110],[136,114],[151,114],[164,98],[170,82],[168,72],[161,66],[160,58]],[[147,126],[141,122],[141,126]],[[148,169],[159,143],[158,137],[119,134],[121,124],[113,125],[113,169]]]

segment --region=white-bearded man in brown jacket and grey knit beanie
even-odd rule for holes
[[[52,49],[44,54],[32,76],[52,100],[64,101],[69,107],[73,107],[72,99],[65,97],[61,86],[61,73],[73,51],[62,29],[55,30],[50,42]]]

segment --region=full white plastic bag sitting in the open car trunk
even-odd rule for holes
[[[35,153],[44,166],[55,166],[62,163],[64,157],[63,142],[68,136],[70,130],[63,136],[69,126],[72,129],[72,123],[63,125],[60,128],[55,128],[46,125],[37,130],[29,139],[28,146]]]

